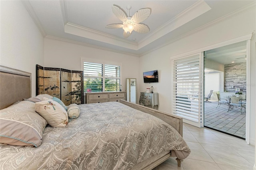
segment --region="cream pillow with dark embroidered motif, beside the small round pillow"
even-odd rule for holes
[[[52,99],[43,98],[42,102],[36,102],[35,109],[52,127],[65,127],[68,124],[67,111]]]

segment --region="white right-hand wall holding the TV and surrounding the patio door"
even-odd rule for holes
[[[251,9],[230,17],[224,21],[216,22],[210,26],[205,26],[198,31],[184,36],[162,48],[154,50],[140,57],[140,74],[148,70],[158,70],[159,82],[154,83],[155,92],[159,93],[159,110],[171,112],[171,91],[172,86],[172,65],[170,58],[178,54],[183,54],[213,44],[231,40],[245,34],[254,32],[251,40],[251,106],[250,106],[250,142],[255,143],[255,103],[256,103],[256,54],[255,54],[255,31],[256,10]],[[210,50],[210,49],[208,49]],[[140,89],[145,89],[148,84],[143,83],[143,79],[138,79]],[[150,84],[151,85],[151,84]],[[249,85],[249,84],[248,84]]]

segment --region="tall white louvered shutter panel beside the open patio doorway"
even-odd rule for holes
[[[201,127],[202,54],[173,60],[173,113],[183,122]]]

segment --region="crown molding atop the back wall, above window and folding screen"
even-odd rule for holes
[[[96,48],[96,49],[100,49],[100,50],[106,50],[106,51],[116,52],[116,53],[120,53],[120,54],[126,54],[126,55],[130,55],[130,56],[139,57],[138,54],[134,54],[134,53],[130,53],[130,52],[123,52],[123,51],[120,51],[120,50],[113,50],[113,49],[110,49],[110,48],[95,46],[95,45],[92,45],[92,44],[86,44],[86,43],[83,43],[83,42],[77,42],[77,41],[68,40],[68,39],[64,39],[64,38],[59,38],[59,37],[55,37],[55,36],[48,36],[47,35],[45,37],[45,39],[58,40],[58,41],[62,41],[62,42],[68,42],[68,43],[71,43],[71,44],[77,44],[77,45],[87,46],[87,47]]]

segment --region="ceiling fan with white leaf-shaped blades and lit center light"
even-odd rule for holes
[[[128,38],[132,31],[136,31],[138,33],[147,33],[149,32],[148,26],[145,24],[140,24],[140,22],[143,22],[150,16],[151,9],[150,8],[143,8],[135,12],[135,14],[130,17],[130,9],[131,6],[126,7],[128,9],[128,16],[126,16],[126,13],[119,8],[116,5],[112,6],[112,11],[115,14],[115,16],[123,22],[123,24],[109,24],[106,26],[106,28],[123,28],[124,33],[123,37]]]

